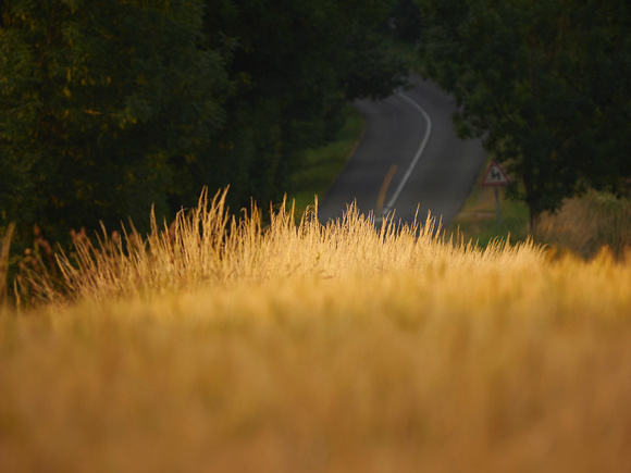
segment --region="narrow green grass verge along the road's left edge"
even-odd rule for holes
[[[344,108],[344,126],[326,146],[307,151],[305,165],[292,176],[287,196],[289,204],[296,202],[296,215],[313,204],[313,197],[324,197],[333,179],[342,172],[363,133],[363,117],[348,103]]]

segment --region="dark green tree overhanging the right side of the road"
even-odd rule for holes
[[[615,0],[419,0],[425,75],[456,98],[461,136],[483,137],[544,211],[587,186],[620,191],[629,167],[631,11]]]

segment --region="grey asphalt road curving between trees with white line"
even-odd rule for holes
[[[421,222],[431,211],[443,226],[462,208],[486,152],[480,140],[456,136],[455,105],[447,94],[419,77],[412,77],[411,84],[411,89],[385,100],[355,103],[366,120],[366,130],[319,204],[323,224],[341,217],[354,201],[361,213],[372,212],[378,222],[394,211],[395,220],[411,223],[420,206]]]

